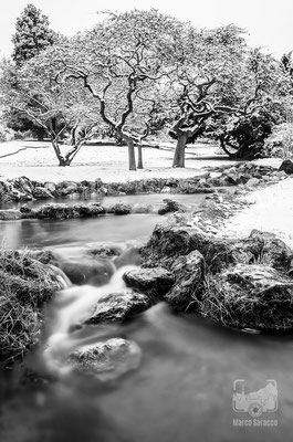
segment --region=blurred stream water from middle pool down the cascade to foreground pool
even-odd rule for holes
[[[18,222],[21,228],[14,243],[51,248],[70,244],[69,250],[73,251],[72,244],[143,238],[158,220],[159,217],[151,213],[83,221],[39,221],[38,228],[30,227],[28,231],[27,221],[23,221]],[[12,239],[4,241],[13,244]],[[72,328],[86,319],[104,294],[124,288],[122,274],[126,269],[116,270],[104,286],[74,286],[56,297],[49,309],[42,349],[27,362],[41,372],[52,371],[55,378],[41,386],[24,387],[17,393],[8,389],[8,385],[13,385],[11,379],[10,382],[3,379],[3,385],[0,383],[0,441],[291,440],[291,336],[223,328],[198,315],[175,315],[165,303],[124,325]],[[67,352],[112,337],[137,344],[142,360],[136,369],[108,381],[69,369],[64,358]],[[13,380],[13,376],[11,378]],[[248,412],[233,411],[233,385],[253,392],[265,387],[268,380],[278,387],[278,402],[276,397],[273,398],[275,411],[264,410],[257,419]],[[251,425],[239,427],[237,420],[251,421]]]

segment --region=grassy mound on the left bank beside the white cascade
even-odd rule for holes
[[[41,306],[60,290],[54,272],[28,251],[0,250],[0,364],[22,359],[38,343]]]

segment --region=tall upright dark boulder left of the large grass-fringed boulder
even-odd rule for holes
[[[205,259],[197,250],[188,255],[178,256],[171,266],[175,284],[165,295],[165,299],[176,311],[197,307],[197,299],[202,292],[205,278]]]

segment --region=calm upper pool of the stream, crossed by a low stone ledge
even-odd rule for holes
[[[125,242],[149,236],[155,224],[161,220],[157,214],[158,208],[165,198],[176,201],[196,210],[203,201],[203,194],[143,194],[105,197],[91,199],[90,202],[101,201],[103,204],[147,204],[150,207],[149,214],[129,214],[125,217],[100,217],[98,219],[73,219],[73,220],[21,220],[0,222],[0,242],[8,248],[50,248],[55,245],[77,245],[97,242]],[[66,199],[66,204],[76,204],[76,199]],[[64,200],[62,200],[64,202]],[[33,206],[38,207],[36,201]],[[19,204],[10,203],[9,209]],[[21,204],[20,204],[21,206]],[[2,207],[3,208],[3,207]]]

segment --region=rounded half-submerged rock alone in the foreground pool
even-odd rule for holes
[[[133,340],[122,338],[87,346],[74,351],[69,362],[100,380],[114,380],[139,367],[142,350]]]

